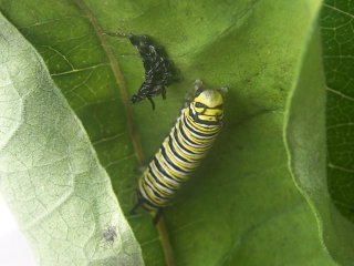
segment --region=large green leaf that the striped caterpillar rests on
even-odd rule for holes
[[[140,174],[137,157],[142,161],[143,151],[147,162],[156,152],[192,81],[229,86],[215,149],[165,213],[176,265],[192,266],[334,265],[294,186],[283,144],[285,102],[299,70],[319,68],[303,58],[320,6],[320,0],[0,0],[81,119],[125,213]],[[184,80],[168,88],[166,101],[156,100],[155,112],[147,101],[128,104],[126,94],[143,81],[140,59],[127,40],[103,31],[149,34],[179,68]],[[128,219],[146,264],[164,265],[150,216]]]

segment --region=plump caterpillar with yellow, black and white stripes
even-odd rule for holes
[[[199,165],[222,125],[223,99],[219,90],[202,90],[196,81],[196,94],[181,110],[176,124],[139,178],[137,203],[147,211],[160,211],[181,183]]]

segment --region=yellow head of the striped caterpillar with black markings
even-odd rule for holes
[[[190,103],[191,112],[199,121],[219,122],[223,117],[223,100],[217,90],[205,90]]]

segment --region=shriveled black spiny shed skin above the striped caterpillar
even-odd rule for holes
[[[125,37],[121,33],[107,34]],[[152,98],[162,94],[163,99],[166,99],[166,86],[178,80],[177,70],[163,48],[157,47],[148,35],[128,34],[127,38],[139,52],[145,69],[145,81],[131,100],[133,103],[137,103],[147,98],[155,110]]]

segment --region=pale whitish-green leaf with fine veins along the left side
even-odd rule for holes
[[[0,185],[41,265],[143,265],[105,170],[44,62],[0,14]],[[115,228],[113,243],[103,233]]]

